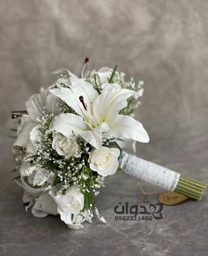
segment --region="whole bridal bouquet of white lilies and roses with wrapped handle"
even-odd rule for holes
[[[95,197],[119,166],[170,191],[186,191],[191,183],[194,190],[197,183],[122,151],[125,140],[149,141],[133,118],[143,82],[127,81],[116,66],[85,71],[87,61],[80,78],[58,70],[52,86],[41,88],[26,102],[26,110],[11,115],[19,122],[13,153],[26,210],[32,207],[35,217],[59,214],[71,229],[83,228],[93,215],[105,222]],[[188,189],[188,196],[201,198],[204,184],[197,183],[198,188],[200,194]]]

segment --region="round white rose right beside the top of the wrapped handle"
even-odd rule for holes
[[[103,177],[113,175],[118,169],[119,154],[118,148],[101,147],[94,149],[89,158],[90,168]]]

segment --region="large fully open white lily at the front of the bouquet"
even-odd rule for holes
[[[71,77],[71,87],[50,90],[66,102],[78,115],[66,113],[56,116],[51,128],[70,137],[80,135],[93,147],[102,146],[102,132],[118,139],[148,142],[149,136],[141,123],[129,116],[120,115],[127,99],[135,92],[117,84],[103,84],[101,94],[85,79]]]

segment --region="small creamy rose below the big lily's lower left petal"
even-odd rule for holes
[[[80,152],[78,143],[74,138],[63,137],[60,134],[54,136],[52,147],[56,150],[57,154],[64,155],[66,159]]]

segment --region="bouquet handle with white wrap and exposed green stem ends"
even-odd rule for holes
[[[207,185],[124,151],[120,158],[120,168],[142,181],[155,184],[166,191],[181,193],[192,200],[201,200]]]

